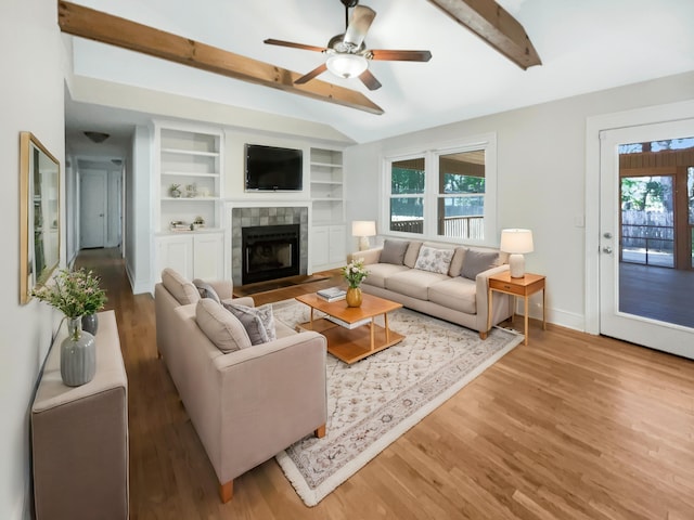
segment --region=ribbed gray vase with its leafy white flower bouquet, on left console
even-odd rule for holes
[[[106,295],[92,271],[59,271],[52,283],[31,291],[31,296],[65,314],[67,337],[61,342],[61,377],[69,387],[91,381],[97,372],[94,336],[82,330],[81,320],[104,307]]]

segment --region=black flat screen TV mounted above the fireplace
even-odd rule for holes
[[[247,191],[300,191],[303,181],[303,151],[246,144]]]

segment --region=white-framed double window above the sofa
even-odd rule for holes
[[[394,234],[490,243],[496,236],[496,136],[385,159]]]

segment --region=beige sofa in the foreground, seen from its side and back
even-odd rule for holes
[[[210,285],[222,300],[231,298],[231,283]],[[227,309],[201,299],[172,270],[164,270],[154,294],[157,349],[215,468],[222,502],[231,499],[236,477],[307,434],[325,434],[323,336],[275,321],[277,339],[224,353],[210,327],[230,329],[228,343],[248,338]],[[253,307],[250,298],[233,302]]]

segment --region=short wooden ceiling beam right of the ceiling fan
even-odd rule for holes
[[[541,65],[523,25],[494,0],[429,0],[524,70]]]

